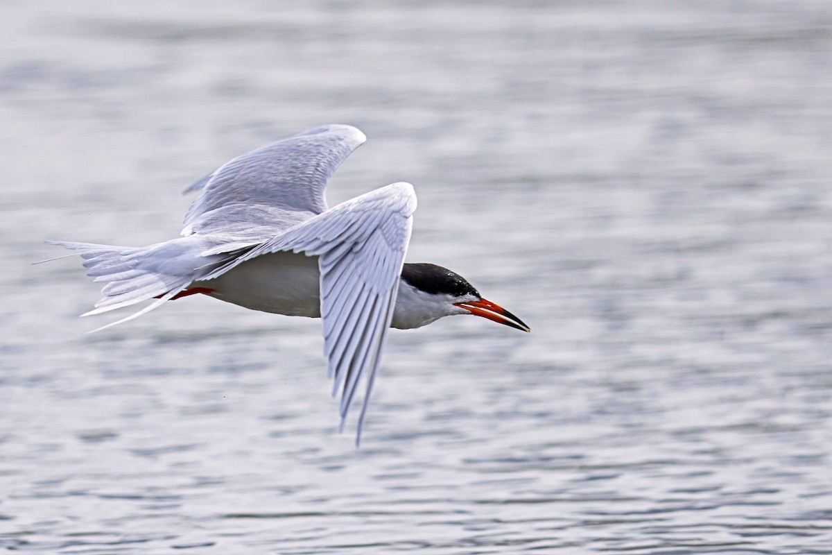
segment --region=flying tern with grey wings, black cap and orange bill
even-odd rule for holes
[[[82,316],[152,301],[98,330],[189,295],[322,318],[341,430],[364,380],[358,445],[390,327],[476,315],[530,331],[461,275],[404,262],[416,209],[411,184],[392,183],[327,206],[329,177],[364,141],[354,126],[330,124],[234,158],[186,189],[198,196],[175,239],[142,247],[47,243],[77,250],[87,275],[106,284],[102,299]]]

